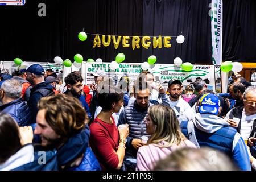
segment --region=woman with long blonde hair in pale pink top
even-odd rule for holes
[[[195,144],[181,133],[179,121],[170,107],[164,105],[150,107],[144,122],[147,127],[146,132],[151,138],[147,146],[142,146],[138,150],[136,167],[138,171],[154,170],[156,162],[179,148],[196,148]]]

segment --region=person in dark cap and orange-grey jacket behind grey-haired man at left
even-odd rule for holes
[[[30,98],[30,90],[32,86],[30,82],[26,80],[26,67],[24,67],[24,69],[20,68],[14,71],[12,75],[15,80],[18,80],[20,84],[22,84],[22,99],[27,102]]]

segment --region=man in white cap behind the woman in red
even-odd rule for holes
[[[100,82],[104,80],[104,77],[106,76],[106,74],[101,69],[98,69],[96,72],[93,72],[90,75],[94,76],[94,83],[89,85],[90,89],[92,89],[92,91],[93,91],[92,102],[90,103],[90,113],[92,114],[91,121],[93,121],[95,111],[98,107],[97,85],[100,84]]]

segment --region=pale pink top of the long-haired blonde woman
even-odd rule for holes
[[[159,144],[163,145],[166,142],[160,142]],[[196,148],[195,144],[189,140],[181,142],[179,146],[172,144],[172,146],[167,148],[162,148],[156,146],[156,144],[149,144],[148,146],[142,146],[139,148],[137,153],[137,171],[153,171],[160,159],[166,158],[167,155],[170,155],[172,151],[175,151],[182,147]]]

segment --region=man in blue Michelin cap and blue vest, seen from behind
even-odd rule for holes
[[[216,148],[228,155],[241,170],[250,170],[246,144],[237,130],[218,117],[220,100],[212,93],[204,94],[197,102],[199,113],[191,121],[180,123],[183,134],[196,146]],[[209,160],[214,160],[214,155]]]

